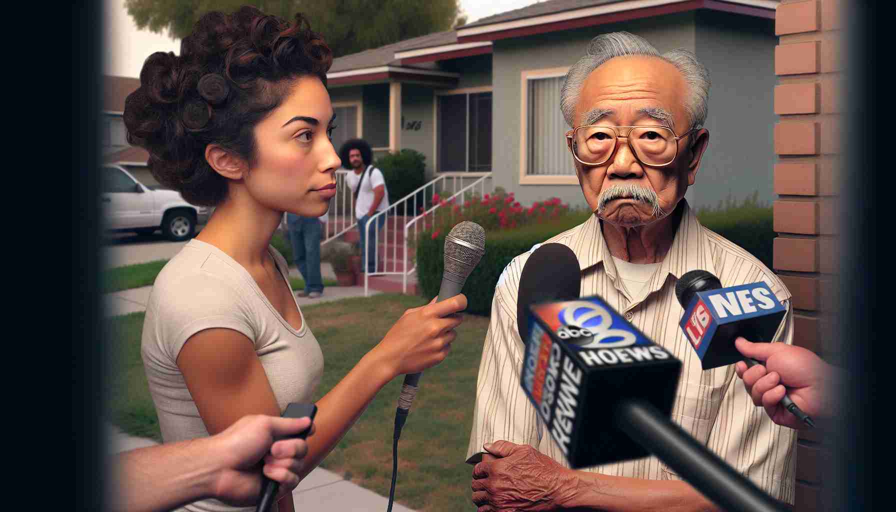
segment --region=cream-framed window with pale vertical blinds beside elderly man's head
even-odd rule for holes
[[[573,157],[566,148],[569,130],[560,112],[564,76],[526,79],[526,175],[575,176]]]

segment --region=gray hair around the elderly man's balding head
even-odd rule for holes
[[[563,89],[560,91],[560,110],[570,127],[575,126],[575,107],[579,103],[585,79],[599,65],[616,56],[655,56],[676,66],[687,83],[684,107],[690,117],[690,127],[699,127],[706,122],[710,74],[697,60],[694,52],[678,48],[660,55],[647,39],[629,32],[611,32],[591,39],[586,55],[570,67],[564,77]]]

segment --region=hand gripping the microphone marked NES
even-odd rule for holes
[[[780,404],[785,394],[809,416],[831,416],[828,395],[832,373],[813,351],[787,343],[750,343],[742,337],[737,338],[735,346],[746,357],[765,361],[764,368],[756,365],[750,369],[738,361],[735,370],[753,403],[764,407],[771,421],[791,429],[806,429],[805,423]]]

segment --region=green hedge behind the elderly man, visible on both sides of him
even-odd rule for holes
[[[717,208],[700,209],[697,216],[703,226],[744,247],[771,268],[771,245],[775,237],[771,227],[771,207],[759,204],[755,197],[746,199],[742,204],[729,200],[727,204],[719,204]],[[467,296],[467,312],[489,315],[495,285],[504,267],[515,256],[530,250],[535,244],[581,224],[590,214],[588,211],[573,211],[555,221],[515,230],[489,231],[486,237],[486,254],[463,287],[463,293]],[[430,232],[418,239],[418,285],[425,297],[435,297],[439,292],[446,234],[444,230],[439,230],[435,238]]]

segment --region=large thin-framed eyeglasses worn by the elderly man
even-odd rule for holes
[[[663,167],[677,158],[678,141],[696,129],[677,136],[665,126],[579,126],[566,132],[566,145],[575,160],[600,165],[613,157],[616,140],[622,137],[642,164]]]

